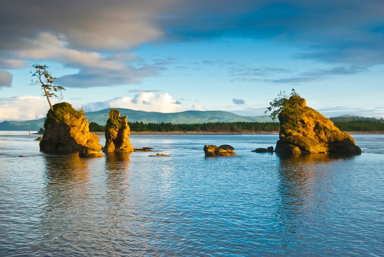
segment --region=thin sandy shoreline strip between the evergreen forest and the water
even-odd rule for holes
[[[383,135],[382,131],[344,131],[350,135]],[[91,132],[95,135],[104,135],[104,132]],[[131,135],[278,135],[278,131],[258,131],[258,132],[197,132],[197,131],[131,131]]]

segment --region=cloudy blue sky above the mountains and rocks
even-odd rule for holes
[[[258,116],[295,88],[326,117],[384,117],[384,1],[2,0],[0,122],[45,117],[34,64],[86,112]]]

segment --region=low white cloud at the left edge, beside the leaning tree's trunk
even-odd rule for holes
[[[54,102],[52,102],[54,104]],[[3,120],[35,120],[45,117],[49,105],[44,97],[15,96],[0,98],[0,122]]]

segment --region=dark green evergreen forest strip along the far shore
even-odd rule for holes
[[[278,122],[210,122],[198,124],[142,123],[128,122],[131,131],[197,131],[197,132],[260,132],[279,131]],[[372,121],[334,122],[342,131],[384,131],[384,123]],[[105,126],[95,122],[89,124],[89,131],[102,132]]]

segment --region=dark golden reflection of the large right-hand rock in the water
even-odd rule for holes
[[[306,229],[314,225],[314,217],[324,211],[323,203],[332,200],[327,197],[329,194],[324,193],[324,185],[331,185],[334,177],[332,173],[338,172],[334,170],[333,163],[353,159],[354,155],[278,156],[281,204],[276,216],[287,233],[299,233],[298,236],[302,237]]]

